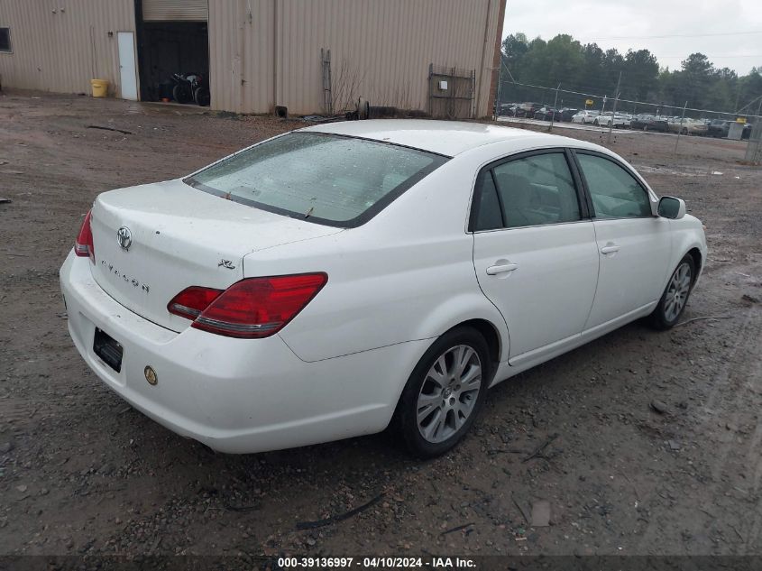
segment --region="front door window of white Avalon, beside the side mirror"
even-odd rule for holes
[[[617,163],[591,154],[577,154],[592,207],[598,218],[651,216],[651,200],[638,180]]]

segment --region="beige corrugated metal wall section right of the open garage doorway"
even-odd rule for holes
[[[209,0],[212,106],[290,114],[323,108],[320,49],[331,50],[335,110],[426,110],[428,64],[476,71],[476,115],[491,114],[505,0]]]

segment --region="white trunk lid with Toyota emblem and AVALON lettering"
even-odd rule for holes
[[[190,325],[167,310],[179,291],[225,290],[243,278],[247,253],[340,231],[225,200],[181,180],[100,195],[92,229],[92,272],[101,288],[127,309],[178,332]]]

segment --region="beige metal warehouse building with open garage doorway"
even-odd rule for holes
[[[2,0],[6,87],[159,100],[208,74],[211,107],[491,115],[505,0]]]

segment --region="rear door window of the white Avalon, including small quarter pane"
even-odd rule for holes
[[[500,207],[503,228],[560,224],[581,217],[574,180],[563,152],[503,162],[482,171],[477,180],[477,185],[480,184],[477,230],[489,230],[496,224],[496,216],[486,211],[495,205]]]

